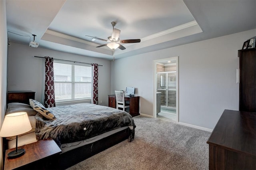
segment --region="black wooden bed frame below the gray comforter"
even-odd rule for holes
[[[19,103],[24,103],[24,101]],[[120,132],[116,132],[110,136],[97,140],[91,144],[86,144],[67,152],[60,153],[58,156],[56,156],[55,160],[52,160],[52,165],[58,169],[69,168],[70,166],[86,160],[87,158],[90,158],[91,156],[98,154],[99,152],[102,152],[111,146],[114,146],[126,139],[128,140],[131,134],[132,138],[134,138],[134,132],[134,130],[132,131],[130,128],[126,128]],[[7,146],[7,140],[4,140],[4,146]],[[4,148],[5,152],[6,147]]]

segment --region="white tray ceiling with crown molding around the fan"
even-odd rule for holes
[[[256,28],[256,0],[6,0],[10,42],[115,59]],[[120,39],[141,39],[110,50],[111,22]],[[14,34],[15,33],[15,34]],[[20,36],[20,35],[23,36]]]

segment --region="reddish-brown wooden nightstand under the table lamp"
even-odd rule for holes
[[[54,140],[39,140],[18,148],[24,148],[25,154],[14,159],[9,159],[7,154],[15,150],[11,148],[5,151],[4,170],[10,169],[56,169],[58,168],[58,154],[60,148]]]

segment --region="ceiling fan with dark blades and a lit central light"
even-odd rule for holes
[[[116,22],[111,22],[111,25],[113,27],[113,32],[112,32],[112,36],[109,36],[107,39],[108,40],[104,40],[101,38],[97,38],[97,37],[92,37],[92,36],[88,36],[88,37],[92,37],[92,41],[96,40],[102,40],[105,42],[109,42],[103,45],[99,45],[97,47],[103,47],[103,46],[108,46],[110,49],[126,49],[123,45],[121,45],[120,43],[138,43],[140,42],[140,39],[132,39],[132,40],[119,40],[119,36],[120,36],[120,30],[114,28],[114,26],[116,26]],[[93,40],[94,39],[94,40]]]

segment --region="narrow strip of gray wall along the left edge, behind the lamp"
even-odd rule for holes
[[[0,0],[0,127],[4,121],[7,88],[7,24],[6,1]],[[2,138],[0,138],[0,169],[3,169]]]

